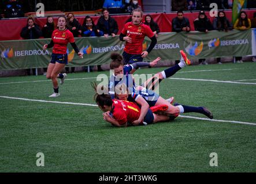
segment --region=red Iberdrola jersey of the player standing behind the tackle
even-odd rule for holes
[[[139,25],[134,25],[132,22],[128,22],[124,25],[124,29],[121,32],[122,34],[129,35],[132,39],[132,43],[125,43],[124,51],[129,54],[138,54],[142,53],[142,45],[144,37],[149,38],[154,36],[154,33],[149,26],[143,24],[142,22]]]

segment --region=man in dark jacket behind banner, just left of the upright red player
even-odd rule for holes
[[[97,27],[99,30],[102,30],[105,37],[112,36],[115,37],[118,33],[118,25],[114,18],[109,16],[109,11],[103,9],[103,16],[98,20]]]

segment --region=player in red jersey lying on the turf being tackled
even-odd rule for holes
[[[168,121],[170,117],[166,115],[157,115],[149,109],[149,105],[146,101],[139,97],[136,101],[141,104],[141,108],[135,102],[122,101],[118,99],[112,99],[109,94],[104,93],[98,94],[98,87],[96,83],[91,83],[94,90],[97,92],[94,95],[94,99],[97,102],[99,108],[104,112],[103,118],[107,122],[110,122],[116,127],[128,127],[129,125],[147,125],[159,121]],[[107,89],[105,89],[107,91]],[[146,106],[144,106],[146,105]],[[157,110],[161,108],[168,108],[167,106],[159,106]]]

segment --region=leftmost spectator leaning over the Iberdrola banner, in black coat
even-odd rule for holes
[[[42,31],[39,28],[38,25],[35,24],[34,18],[29,17],[27,20],[27,26],[25,26],[21,32],[20,36],[23,37],[23,39],[39,39],[40,36],[42,36]],[[33,75],[35,75],[35,68],[33,68]],[[27,75],[30,75],[30,69],[27,69]]]

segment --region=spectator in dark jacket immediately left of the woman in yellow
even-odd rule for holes
[[[225,32],[233,29],[233,25],[226,17],[224,11],[218,11],[218,17],[213,20],[213,29]],[[222,64],[221,57],[217,57],[217,63]]]

